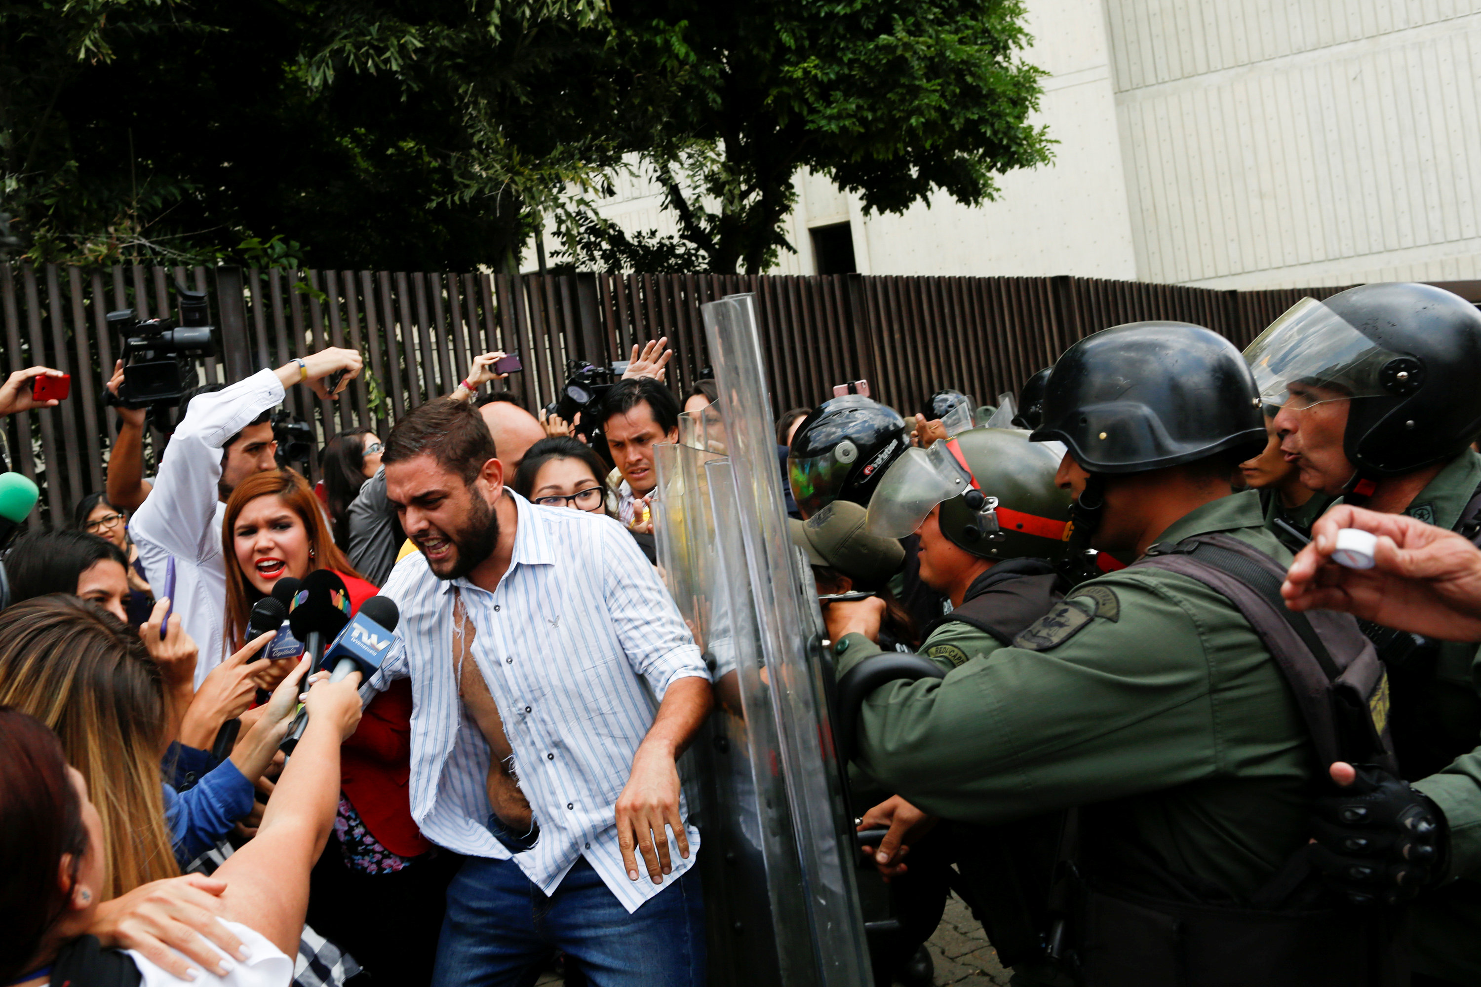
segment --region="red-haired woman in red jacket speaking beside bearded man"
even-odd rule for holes
[[[327,568],[345,580],[350,607],[375,596],[335,545],[308,481],[292,469],[256,474],[231,493],[222,519],[227,641],[243,636],[253,604],[284,576]],[[292,664],[283,661],[283,664]],[[335,832],[314,867],[308,923],[348,950],[376,980],[431,980],[443,897],[455,866],[438,857],[412,818],[407,798],[410,679],[398,679],[364,710],[341,755]],[[387,914],[403,916],[385,935]]]

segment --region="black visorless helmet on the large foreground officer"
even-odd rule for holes
[[[1130,323],[1065,351],[1032,439],[1063,442],[1090,474],[1140,474],[1223,451],[1248,459],[1266,435],[1234,343],[1188,323]]]

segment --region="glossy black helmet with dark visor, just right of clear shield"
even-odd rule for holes
[[[909,444],[909,429],[893,408],[860,394],[825,401],[797,428],[786,453],[786,474],[803,518],[834,500],[860,508],[886,468]]]

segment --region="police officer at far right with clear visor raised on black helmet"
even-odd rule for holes
[[[1280,405],[1281,450],[1318,494],[1481,533],[1481,312],[1428,284],[1368,284],[1302,299],[1246,351],[1262,397]],[[1392,682],[1391,725],[1403,777],[1450,821],[1448,863],[1434,879],[1475,877],[1481,839],[1481,697],[1477,647],[1368,627]],[[1324,843],[1346,855],[1355,832]],[[1370,841],[1374,842],[1374,841]],[[1361,864],[1363,860],[1349,863]],[[1373,894],[1392,866],[1364,867]],[[1414,873],[1405,891],[1414,889]],[[1361,883],[1360,883],[1361,888]],[[1416,980],[1481,978],[1481,886],[1451,880],[1413,906]]]

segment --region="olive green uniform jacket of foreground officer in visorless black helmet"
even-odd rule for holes
[[[1214,531],[1290,561],[1253,491],[1198,508],[1160,542]],[[948,624],[923,651],[952,670],[875,690],[856,761],[932,814],[1004,823],[1090,806],[1084,832],[1126,833],[1235,897],[1308,839],[1309,732],[1256,632],[1203,583],[1124,570],[1078,586],[1014,647]],[[838,673],[877,653],[846,635]]]

